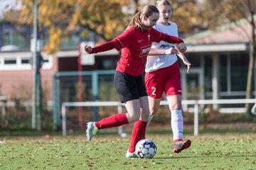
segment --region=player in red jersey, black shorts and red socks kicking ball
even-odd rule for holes
[[[161,40],[178,43],[178,50],[186,51],[183,40],[160,33],[152,28],[158,19],[159,10],[156,6],[144,6],[142,11],[135,14],[122,35],[97,47],[87,45],[84,47],[85,52],[89,54],[114,48],[116,50],[123,49],[114,74],[114,84],[119,93],[120,101],[127,108],[127,113],[119,113],[98,122],[87,123],[86,135],[88,140],[92,140],[92,135],[95,135],[100,129],[134,123],[132,139],[126,157],[137,157],[134,152],[135,145],[139,140],[145,138],[146,123],[149,118],[149,101],[142,73],[144,72],[146,57],[151,49],[151,43]]]

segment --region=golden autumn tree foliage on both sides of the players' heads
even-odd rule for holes
[[[32,26],[33,1],[21,1],[23,8],[18,13],[18,23]],[[145,5],[143,3],[139,0],[38,0],[39,30],[48,33],[45,50],[50,54],[58,52],[63,36],[81,28],[82,38],[88,38],[92,32],[102,40],[112,40],[122,33],[134,13]],[[155,5],[155,1],[151,4]],[[191,33],[191,28],[200,26],[197,4],[190,0],[172,2],[174,13],[171,19],[178,24],[180,35]]]

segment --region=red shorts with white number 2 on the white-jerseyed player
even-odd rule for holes
[[[169,67],[147,72],[145,74],[145,85],[151,98],[161,98],[163,92],[166,96],[182,95],[178,62]]]

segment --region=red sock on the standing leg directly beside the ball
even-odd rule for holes
[[[131,139],[131,142],[129,145],[130,153],[133,153],[135,151],[136,144],[137,144],[137,142],[139,142],[139,140],[145,139],[146,123],[147,122],[138,120],[134,124],[134,128],[132,130],[132,139]]]

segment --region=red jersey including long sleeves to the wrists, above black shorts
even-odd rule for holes
[[[146,57],[149,55],[151,43],[160,42],[161,40],[175,43],[183,42],[179,38],[160,33],[154,28],[143,31],[129,28],[114,40],[92,48],[91,53],[111,50],[112,48],[123,49],[116,70],[137,77],[144,72]]]

